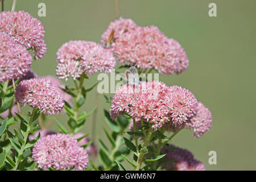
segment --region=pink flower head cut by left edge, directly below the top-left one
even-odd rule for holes
[[[0,32],[0,43],[0,82],[22,77],[32,63],[30,53],[4,32]]]

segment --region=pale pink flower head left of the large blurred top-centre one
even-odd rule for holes
[[[57,76],[65,80],[69,76],[75,80],[82,73],[109,73],[115,67],[115,58],[109,49],[84,40],[72,40],[61,46],[57,51],[57,62]]]

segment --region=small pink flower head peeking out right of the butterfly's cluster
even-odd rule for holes
[[[212,114],[210,110],[199,102],[199,110],[196,116],[187,125],[189,129],[194,130],[193,136],[199,138],[204,135],[212,126]]]

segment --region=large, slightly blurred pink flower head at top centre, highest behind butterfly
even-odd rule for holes
[[[108,41],[123,64],[139,69],[154,68],[168,75],[181,73],[188,67],[187,55],[180,44],[155,26],[140,27],[131,19],[115,20],[102,34],[101,42],[108,44]]]

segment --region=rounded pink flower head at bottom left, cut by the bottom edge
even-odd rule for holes
[[[77,140],[66,134],[53,134],[40,138],[33,147],[32,158],[39,168],[84,170],[88,154]]]

